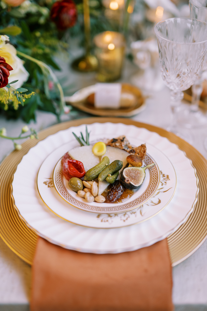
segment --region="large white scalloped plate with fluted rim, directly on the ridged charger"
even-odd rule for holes
[[[38,142],[23,156],[17,166],[12,194],[15,207],[26,224],[51,243],[80,252],[100,254],[133,251],[156,243],[176,231],[192,213],[197,202],[198,179],[191,160],[167,138],[145,128],[122,123],[93,123],[87,127],[89,131],[96,127],[97,135],[104,132],[106,135],[119,136],[124,133],[126,137],[139,138],[162,151],[171,161],[177,176],[176,192],[171,202],[147,221],[115,229],[75,225],[49,211],[37,191],[38,170],[51,152],[71,139],[72,132],[78,134],[85,131],[83,124],[59,131]]]

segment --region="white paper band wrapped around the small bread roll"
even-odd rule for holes
[[[96,108],[118,109],[121,99],[121,83],[97,83],[94,98]]]

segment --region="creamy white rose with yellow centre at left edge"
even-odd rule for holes
[[[8,77],[9,83],[14,80],[19,80],[12,84],[12,87],[15,89],[21,87],[22,84],[27,81],[29,72],[27,72],[23,66],[23,61],[16,55],[15,47],[10,43],[1,44],[0,56],[5,58],[6,63],[8,63],[13,68],[13,70],[10,71],[10,75]]]

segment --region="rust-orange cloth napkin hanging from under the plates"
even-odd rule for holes
[[[79,253],[38,238],[31,311],[172,311],[167,239],[120,254]]]

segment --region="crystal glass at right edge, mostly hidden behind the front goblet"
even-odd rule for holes
[[[207,22],[207,0],[189,0],[191,18],[196,18],[200,21]],[[202,73],[207,71],[207,56],[203,62],[202,72],[192,86],[192,102],[190,111],[188,114],[188,120],[186,127],[196,128],[207,124],[207,117],[205,114],[199,111],[199,100],[203,87],[203,75]]]

